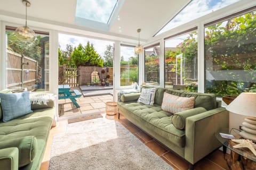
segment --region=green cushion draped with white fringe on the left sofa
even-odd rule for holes
[[[45,92],[31,92],[29,95],[31,109],[42,109],[54,107],[53,94]]]

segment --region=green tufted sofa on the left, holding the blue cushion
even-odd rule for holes
[[[33,113],[3,122],[0,103],[0,169],[40,168],[54,120],[54,101],[31,109]]]

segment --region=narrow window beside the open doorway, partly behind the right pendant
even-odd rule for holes
[[[120,86],[131,86],[133,82],[138,83],[138,59],[133,46],[121,45]]]

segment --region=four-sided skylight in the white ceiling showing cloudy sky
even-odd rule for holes
[[[76,17],[107,24],[118,0],[77,0]]]

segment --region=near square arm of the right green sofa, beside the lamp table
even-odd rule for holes
[[[186,119],[185,159],[188,162],[195,164],[221,146],[214,134],[228,128],[228,114],[225,108],[219,107]]]

